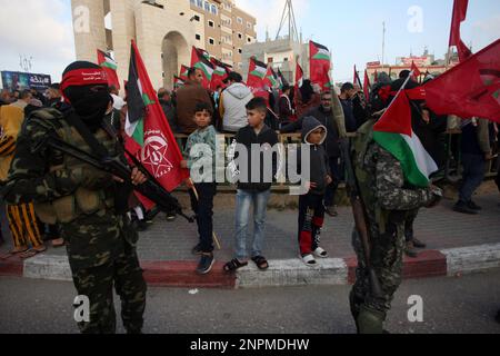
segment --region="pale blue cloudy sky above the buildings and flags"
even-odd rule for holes
[[[189,1],[189,0],[186,0]],[[284,0],[237,0],[276,37]],[[336,81],[351,81],[353,65],[381,60],[386,22],[387,63],[427,47],[443,58],[448,50],[453,0],[293,0],[303,39],[327,46],[333,55]],[[500,38],[500,0],[470,0],[462,39],[473,52]],[[32,57],[31,72],[59,81],[74,60],[70,0],[0,0],[0,70],[20,70],[19,56]]]

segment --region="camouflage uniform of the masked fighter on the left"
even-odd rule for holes
[[[127,332],[140,333],[147,287],[136,250],[138,235],[114,200],[117,184],[109,174],[43,146],[49,132],[90,151],[58,110],[36,111],[22,128],[2,195],[10,204],[34,201],[43,222],[61,227],[74,286],[90,299],[90,323],[79,324],[81,332],[116,332],[114,284]],[[102,129],[96,137],[110,155],[122,156],[116,137]]]

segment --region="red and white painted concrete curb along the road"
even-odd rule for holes
[[[182,288],[263,288],[306,285],[346,285],[356,279],[356,257],[318,259],[308,267],[297,259],[270,260],[260,271],[250,263],[237,274],[226,274],[218,263],[208,276],[194,273],[196,261],[142,261],[144,278],[151,286]],[[456,276],[500,267],[500,244],[427,250],[419,258],[404,259],[404,278]],[[66,256],[40,255],[26,261],[0,260],[0,276],[71,280]]]

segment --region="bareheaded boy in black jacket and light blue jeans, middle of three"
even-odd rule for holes
[[[232,160],[229,169],[238,181],[236,218],[236,258],[224,270],[236,271],[248,265],[247,234],[250,208],[253,205],[254,233],[251,259],[261,270],[269,268],[262,256],[266,214],[273,177],[278,172],[278,135],[264,123],[268,108],[266,100],[254,98],[247,105],[249,125],[242,128],[229,150]],[[256,148],[258,149],[256,155]],[[247,152],[243,158],[241,152]],[[253,155],[252,155],[253,154]]]

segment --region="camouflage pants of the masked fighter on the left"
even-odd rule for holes
[[[73,283],[81,296],[90,299],[90,323],[80,323],[82,334],[114,334],[117,315],[113,285],[121,299],[121,317],[128,333],[140,333],[146,309],[146,281],[134,248],[102,266],[73,273]]]

